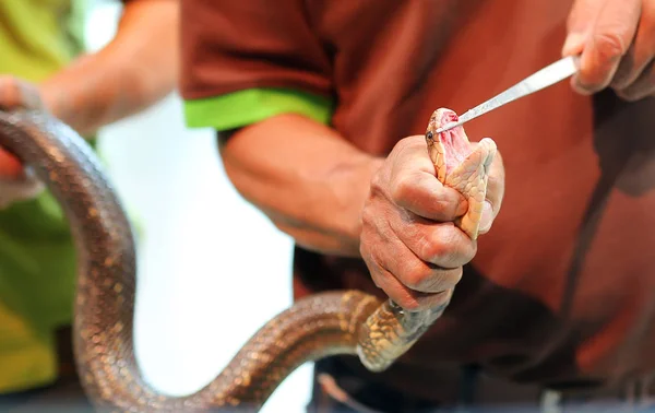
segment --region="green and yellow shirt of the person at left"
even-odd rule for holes
[[[33,82],[83,50],[85,0],[0,0],[0,74]],[[53,331],[72,319],[75,253],[49,192],[0,210],[0,393],[56,378]]]

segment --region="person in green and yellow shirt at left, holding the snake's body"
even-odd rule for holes
[[[48,111],[94,146],[98,128],[168,95],[178,75],[178,1],[122,2],[116,36],[85,54],[91,3],[0,0],[0,107]],[[55,198],[0,149],[0,408],[82,398],[70,330],[75,271]]]

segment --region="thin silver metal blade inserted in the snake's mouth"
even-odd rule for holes
[[[516,101],[521,97],[527,96],[532,93],[561,82],[577,71],[577,56],[568,56],[556,61],[555,63],[548,64],[544,69],[531,74],[507,91],[493,96],[487,102],[481,103],[473,109],[467,110],[458,117],[456,122],[451,122],[442,128],[439,128],[437,133],[456,128],[472,119],[477,118],[478,116],[485,115],[493,109],[498,109],[510,102]]]

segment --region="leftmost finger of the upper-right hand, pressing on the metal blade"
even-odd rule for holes
[[[632,44],[640,15],[641,0],[604,2],[571,80],[577,92],[591,94],[609,85]]]

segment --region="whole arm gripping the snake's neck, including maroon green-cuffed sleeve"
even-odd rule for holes
[[[306,249],[364,258],[401,306],[440,306],[475,241],[453,226],[462,197],[440,186],[425,137],[400,135],[377,156],[331,127],[332,63],[297,2],[188,0],[182,10],[187,122],[218,131],[236,189]],[[425,253],[408,256],[421,240]]]

